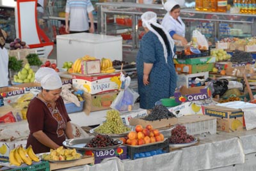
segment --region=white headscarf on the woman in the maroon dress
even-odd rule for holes
[[[61,78],[52,68],[39,68],[35,73],[35,80],[40,82],[43,89],[55,90],[62,87]]]

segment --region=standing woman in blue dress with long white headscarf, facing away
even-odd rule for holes
[[[173,64],[173,40],[157,23],[157,15],[141,15],[145,34],[136,58],[140,107],[151,109],[161,98],[173,96],[177,75]]]

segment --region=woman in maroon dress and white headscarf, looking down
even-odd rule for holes
[[[38,154],[62,146],[66,137],[74,138],[70,117],[60,96],[62,82],[52,68],[40,68],[35,73],[42,85],[41,93],[29,103],[27,119],[29,137],[27,145]]]

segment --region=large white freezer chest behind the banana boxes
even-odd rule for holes
[[[57,64],[63,66],[65,61],[76,61],[85,55],[101,59],[107,57],[122,61],[122,37],[104,34],[75,33],[56,36]]]

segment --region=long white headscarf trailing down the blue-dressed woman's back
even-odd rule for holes
[[[167,53],[167,49],[166,49],[164,40],[163,40],[162,36],[159,33],[157,33],[157,31],[150,26],[150,24],[153,24],[154,26],[159,27],[164,31],[164,33],[166,34],[168,41],[170,43],[170,50],[172,50],[172,55],[174,56],[174,52],[173,52],[174,41],[171,38],[170,34],[164,29],[163,26],[161,26],[160,24],[157,23],[157,15],[156,15],[156,13],[154,13],[152,11],[147,11],[147,12],[143,13],[143,15],[141,15],[141,20],[142,20],[142,26],[147,27],[150,31],[152,31],[154,34],[156,34],[157,38],[162,43],[163,48],[164,48],[164,58],[167,63],[168,53]]]

